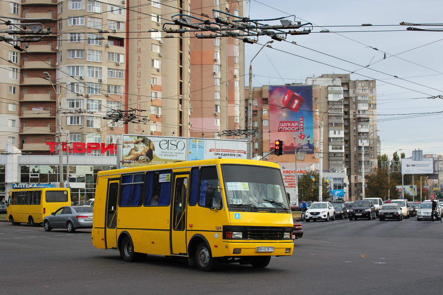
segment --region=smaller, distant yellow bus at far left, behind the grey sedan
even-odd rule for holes
[[[9,191],[7,218],[13,225],[21,222],[40,225],[43,218],[62,206],[71,205],[69,188],[26,188]]]

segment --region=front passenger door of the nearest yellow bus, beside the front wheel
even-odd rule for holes
[[[174,183],[174,199],[171,206],[171,253],[176,255],[186,255],[186,204],[188,176],[184,176],[183,174],[175,175]]]

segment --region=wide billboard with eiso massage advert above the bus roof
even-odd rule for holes
[[[123,135],[121,166],[137,167],[215,158],[247,159],[245,140]]]

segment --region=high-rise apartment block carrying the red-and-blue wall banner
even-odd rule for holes
[[[349,74],[325,74],[309,77],[304,84],[253,88],[252,123],[259,130],[253,142],[254,156],[267,155],[275,140],[284,140],[285,154],[271,154],[267,161],[278,161],[284,167],[287,190],[295,190],[297,150],[306,152],[304,160],[299,157],[297,161],[297,175],[319,171],[323,159],[323,178],[331,180],[331,194],[350,201],[361,198],[363,171],[368,174],[377,168],[380,153],[375,82],[350,80]],[[294,102],[297,104],[291,104]]]

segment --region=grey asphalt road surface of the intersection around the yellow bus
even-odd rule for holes
[[[45,232],[0,222],[2,294],[442,294],[443,223],[303,222],[294,255],[267,268],[183,259],[128,263],[92,246],[90,230]]]

